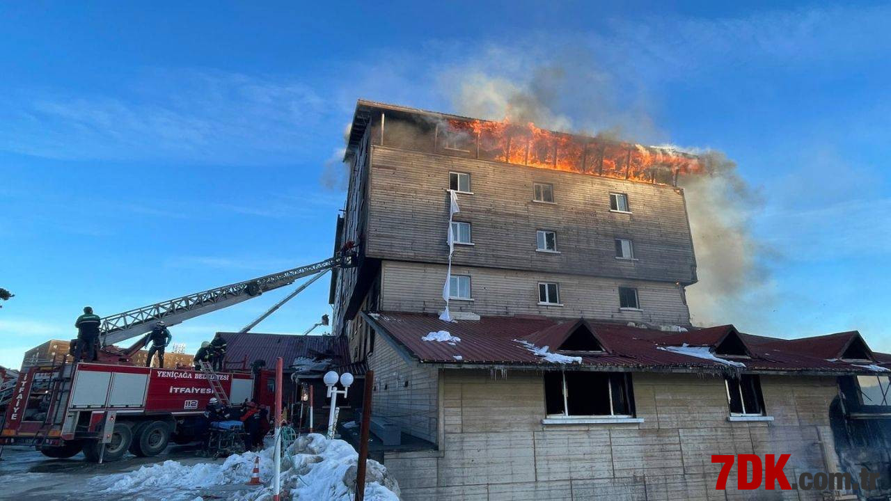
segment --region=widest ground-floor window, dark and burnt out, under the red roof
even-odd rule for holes
[[[634,417],[631,374],[545,373],[544,400],[548,417]]]

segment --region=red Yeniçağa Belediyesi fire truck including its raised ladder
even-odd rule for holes
[[[328,270],[353,267],[355,261],[355,250],[347,247],[313,265],[102,318],[102,346],[95,362],[61,357],[20,372],[7,403],[0,445],[33,445],[54,458],[83,451],[93,462],[119,459],[128,450],[136,456],[154,456],[169,441],[185,444],[200,438],[210,398],[222,405],[252,398],[271,405],[260,401],[268,394],[260,389],[273,374],[253,370],[246,361],[237,369],[215,372],[206,363],[200,370],[135,366],[132,357],[143,347],[142,336],[159,320],[178,324],[315,275],[241,329],[246,333]],[[111,344],[136,336],[141,339],[127,349]]]

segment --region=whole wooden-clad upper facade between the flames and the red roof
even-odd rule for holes
[[[430,313],[445,306],[452,172],[470,175],[471,193],[458,194],[454,220],[470,223],[472,243],[455,246],[453,264],[477,276],[478,292],[486,292],[478,301],[455,301],[455,310],[690,324],[684,287],[697,278],[683,190],[486,160],[444,148],[429,113],[388,114],[391,108],[367,111],[350,136],[336,247],[356,242],[361,264],[333,279],[335,333],[358,332],[349,323],[358,322],[362,304]],[[550,185],[553,201],[535,201],[535,184]],[[629,210],[610,209],[610,193],[624,195]],[[539,230],[554,232],[556,251],[536,248]],[[632,242],[633,259],[617,259],[617,239]],[[538,305],[538,282],[563,284],[564,307]],[[638,290],[641,311],[619,310],[619,286]]]

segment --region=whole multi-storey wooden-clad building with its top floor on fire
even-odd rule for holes
[[[691,325],[677,179],[707,160],[366,101],[347,142],[333,333],[411,439],[379,451],[407,499],[752,498],[712,455],[835,472],[837,420],[891,412],[859,333]]]

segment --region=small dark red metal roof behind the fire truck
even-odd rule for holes
[[[332,365],[349,363],[349,348],[344,336],[298,336],[294,334],[265,333],[218,333],[227,343],[226,366],[242,362],[250,366],[255,360],[263,360],[266,367],[275,365],[275,358],[282,357],[287,368],[298,357],[331,358]]]

